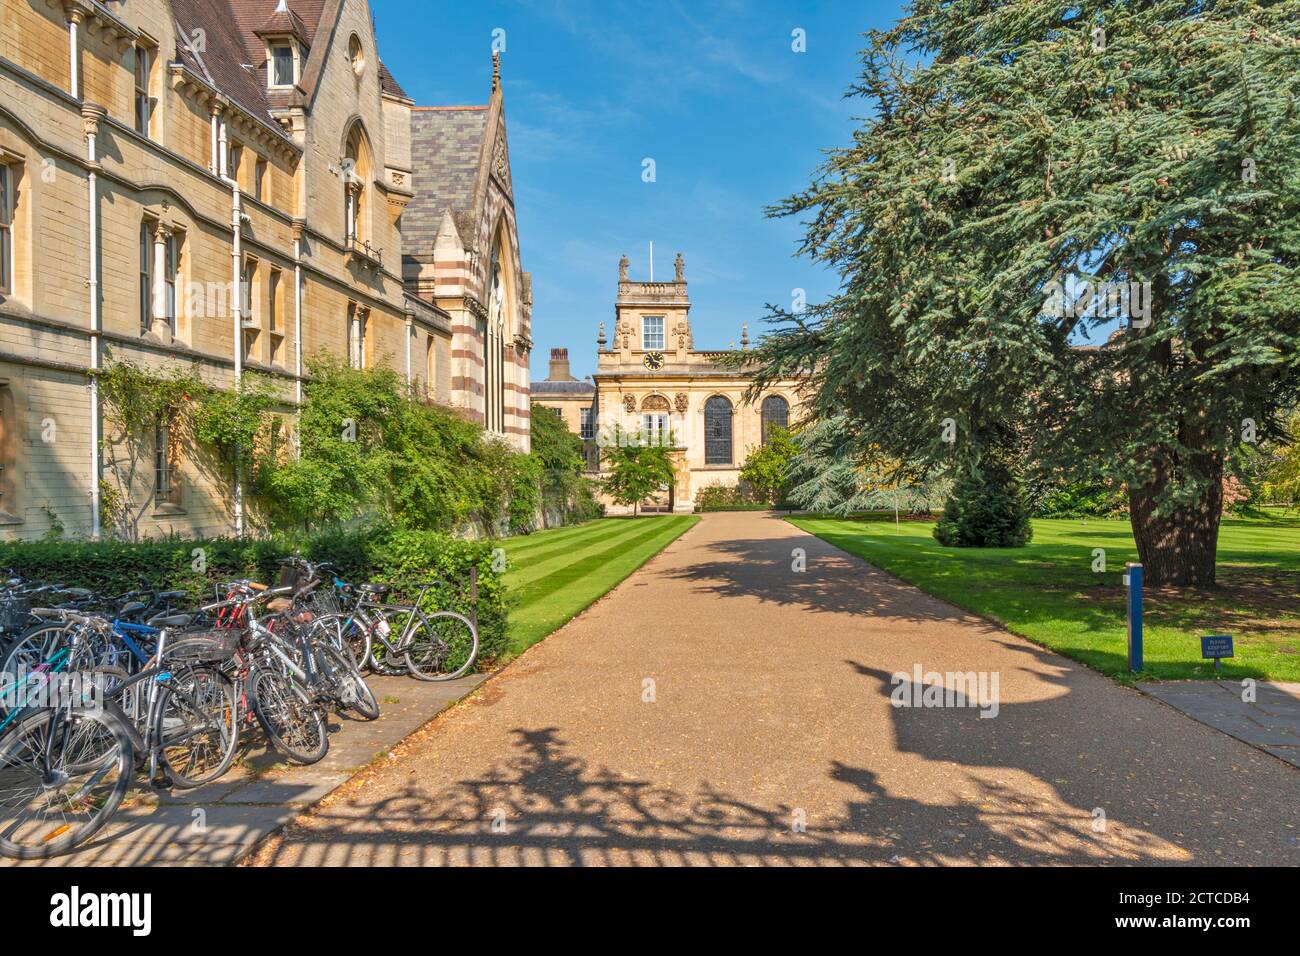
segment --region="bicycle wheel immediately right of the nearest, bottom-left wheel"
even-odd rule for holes
[[[153,717],[159,756],[181,790],[211,783],[239,749],[234,682],[216,667],[191,667],[162,684]]]

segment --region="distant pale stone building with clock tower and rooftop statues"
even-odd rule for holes
[[[628,269],[624,256],[619,263],[612,336],[606,336],[601,323],[590,390],[552,382],[556,378],[552,354],[550,377],[533,386],[534,401],[559,408],[571,428],[577,420],[575,431],[581,432],[582,418],[586,419],[589,429],[584,437],[590,438],[588,460],[593,463],[598,460],[593,446],[615,440],[619,429],[638,432],[646,441],[667,442],[676,479],[655,505],[662,510],[690,511],[701,488],[737,483],[745,458],[766,441],[771,427],[784,427],[798,418],[800,384],[779,382],[754,402],[746,402],[749,377],[744,371],[716,363],[727,352],[694,346],[681,255],[671,282],[634,282]],[[740,345],[749,347],[744,326]],[[563,358],[567,373],[567,352]],[[564,390],[558,394],[558,388]],[[607,506],[611,514],[618,514],[615,506]]]

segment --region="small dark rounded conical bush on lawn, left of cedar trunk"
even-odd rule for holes
[[[949,548],[1023,548],[1031,537],[1019,485],[997,462],[965,468],[935,524],[935,540]]]

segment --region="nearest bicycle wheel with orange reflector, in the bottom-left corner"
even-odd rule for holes
[[[44,860],[84,843],[117,812],[135,753],[107,710],[36,710],[0,737],[0,853]]]

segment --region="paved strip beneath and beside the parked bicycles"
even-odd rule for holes
[[[133,791],[124,809],[75,853],[32,862],[0,857],[0,866],[237,862],[482,680],[481,674],[446,683],[370,678],[380,718],[365,722],[332,714],[330,749],[318,763],[281,763],[261,734],[252,731],[235,767],[220,780],[191,791]]]

